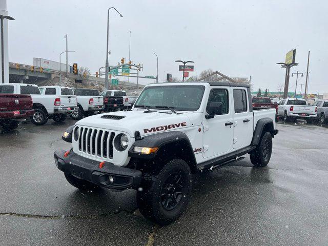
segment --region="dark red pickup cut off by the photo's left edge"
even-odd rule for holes
[[[8,131],[16,129],[19,121],[31,117],[34,110],[31,95],[7,94],[4,87],[0,87],[0,126]]]

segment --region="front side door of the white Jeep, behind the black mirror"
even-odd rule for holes
[[[229,87],[213,88],[210,91],[203,119],[203,158],[217,157],[232,148],[233,125]],[[222,114],[206,119],[211,102],[222,103]],[[228,124],[227,124],[228,123]]]

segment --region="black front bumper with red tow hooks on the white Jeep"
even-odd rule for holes
[[[99,161],[79,156],[73,151],[67,157],[64,154],[64,150],[55,151],[54,154],[56,166],[60,171],[109,189],[139,188],[142,176],[139,170],[117,167],[110,162],[105,162],[103,168],[99,168]],[[109,176],[114,178],[113,183],[109,181]]]

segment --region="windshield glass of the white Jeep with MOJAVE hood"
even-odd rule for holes
[[[152,109],[172,107],[174,110],[196,111],[199,109],[204,86],[151,86],[141,92],[135,106]]]

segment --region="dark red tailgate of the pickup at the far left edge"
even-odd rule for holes
[[[26,94],[0,94],[0,110],[26,110],[32,109],[31,95]]]

